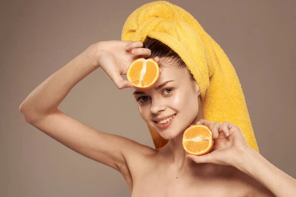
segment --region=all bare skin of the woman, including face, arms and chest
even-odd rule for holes
[[[204,120],[198,85],[189,79],[185,69],[157,57],[155,61],[161,66],[159,80],[151,89],[141,90],[144,93],[134,97],[136,100],[146,97],[142,99],[145,103],[137,101],[140,115],[162,137],[169,139],[164,147],[155,150],[119,135],[97,131],[58,109],[74,85],[99,67],[118,89],[129,87],[133,92],[140,91],[123,80],[121,74],[126,73],[134,60],[150,55],[142,46],[142,42],[116,40],[91,45],[49,76],[21,103],[25,120],[77,153],[118,170],[132,197],[292,197],[296,194],[296,180],[251,149],[237,126]],[[168,80],[174,82],[154,89]],[[176,116],[170,127],[155,126],[155,118],[171,114]],[[204,124],[212,130],[215,145],[210,153],[192,156],[184,151],[182,133],[191,124]]]

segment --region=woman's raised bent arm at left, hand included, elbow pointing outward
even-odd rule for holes
[[[130,45],[129,50],[125,49],[126,45]],[[20,111],[25,120],[75,152],[120,171],[120,167],[126,165],[123,155],[137,143],[94,130],[63,113],[58,106],[75,84],[99,67],[118,89],[131,87],[121,74],[125,74],[129,64],[140,55],[149,56],[150,51],[142,46],[141,42],[130,41],[104,41],[91,45],[49,76],[21,103]],[[136,54],[132,54],[131,49]]]

